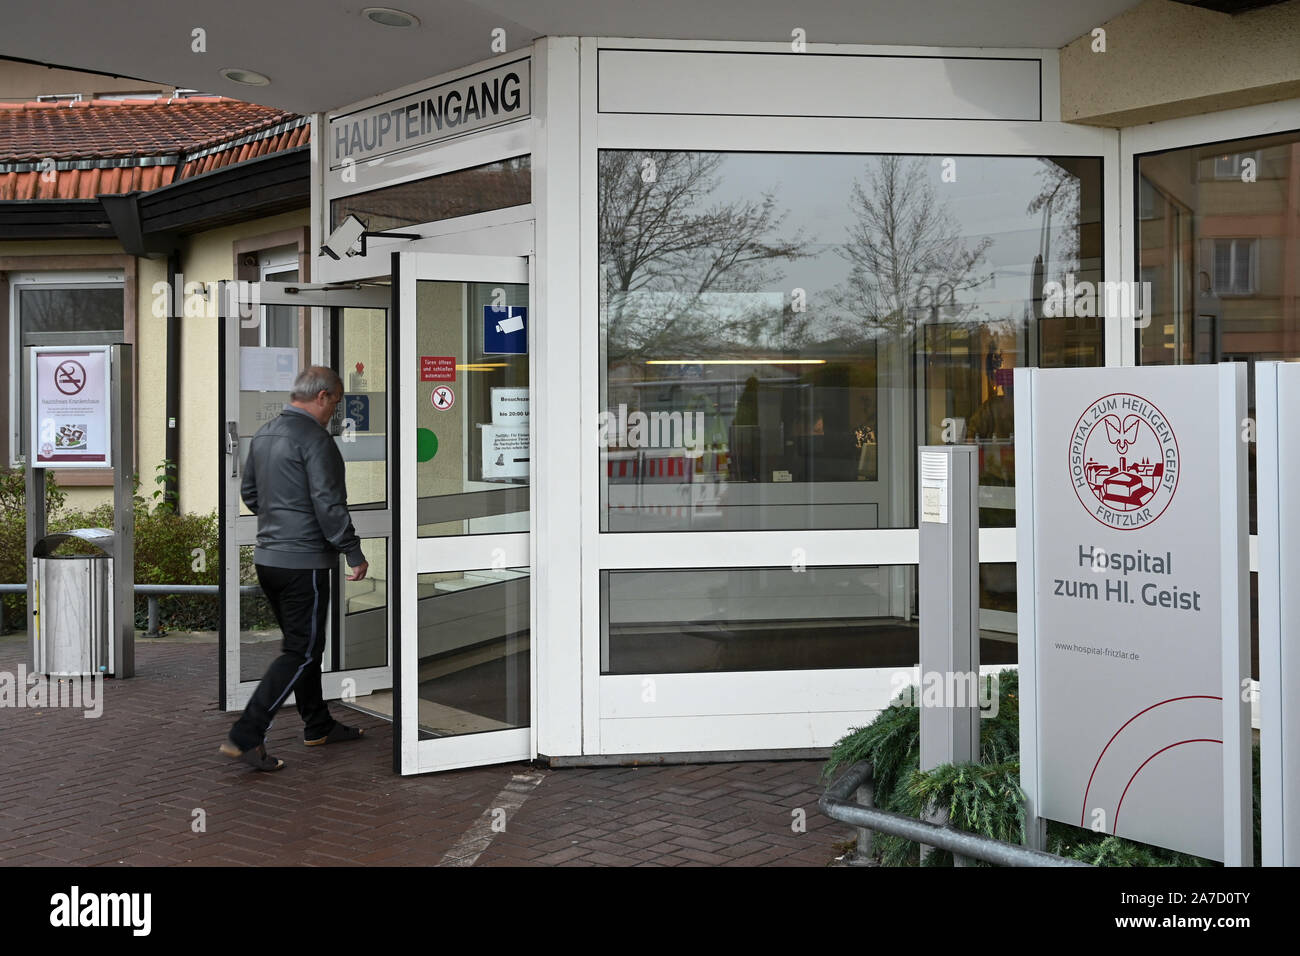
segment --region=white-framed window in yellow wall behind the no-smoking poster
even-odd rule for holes
[[[10,273],[9,276],[9,463],[26,460],[29,446],[27,346],[114,345],[124,332],[121,273]]]

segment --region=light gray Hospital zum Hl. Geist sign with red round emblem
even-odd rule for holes
[[[1014,389],[1028,814],[1248,865],[1245,367]]]

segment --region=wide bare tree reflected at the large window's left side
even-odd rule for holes
[[[780,332],[781,260],[807,255],[806,239],[780,234],[771,191],[710,202],[720,153],[602,151],[599,250],[602,316],[611,363],[719,349],[746,350]],[[716,293],[745,293],[718,306]]]

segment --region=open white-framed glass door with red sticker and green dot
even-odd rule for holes
[[[395,765],[533,745],[530,300],[519,256],[394,255]]]

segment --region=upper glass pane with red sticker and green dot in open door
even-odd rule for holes
[[[528,531],[528,286],[416,284],[421,537]]]

